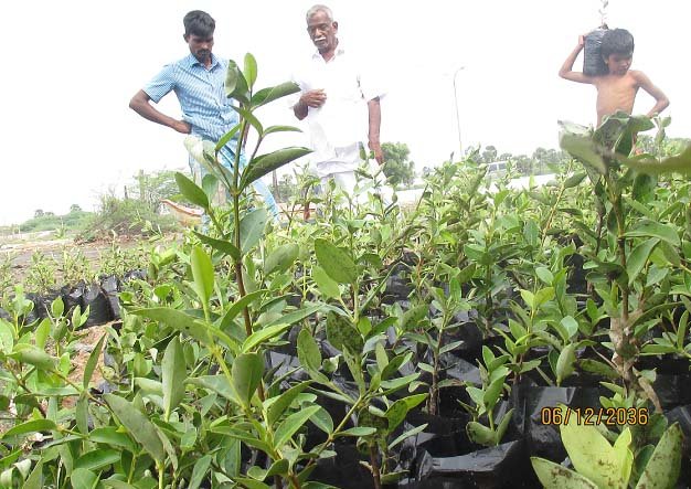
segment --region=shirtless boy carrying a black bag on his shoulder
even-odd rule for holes
[[[573,65],[583,50],[584,36],[578,38],[578,45],[568,55],[559,75],[572,82],[589,83],[597,88],[597,125],[603,123],[605,116],[623,110],[631,114],[634,100],[638,88],[646,91],[655,98],[655,106],[647,114],[652,117],[661,113],[668,105],[667,96],[650,82],[645,73],[629,70],[634,57],[634,36],[624,29],[607,31],[602,41],[602,56],[609,68],[609,73],[602,76],[588,76],[581,72],[574,72]]]

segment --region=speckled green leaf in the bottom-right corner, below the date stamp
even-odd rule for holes
[[[646,465],[636,489],[663,489],[674,487],[681,470],[681,445],[683,434],[679,423],[672,424]]]

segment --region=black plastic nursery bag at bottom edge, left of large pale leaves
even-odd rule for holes
[[[423,451],[415,479],[427,482],[422,487],[533,488],[536,485],[531,472],[523,440],[519,439],[455,457],[433,457]],[[429,485],[434,482],[439,483]]]

